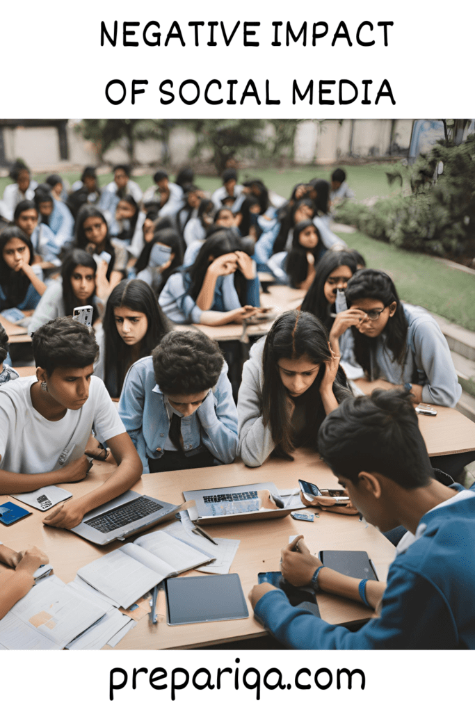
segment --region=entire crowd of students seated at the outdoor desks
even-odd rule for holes
[[[239,186],[231,169],[210,200],[191,182],[185,189],[169,182],[163,171],[155,174],[157,187],[148,195],[132,195],[127,170],[117,167],[114,186],[102,193],[89,180],[90,171],[75,187],[73,195],[82,191],[85,201],[75,217],[75,240],[63,253],[61,280],[46,287],[38,278],[44,289],[30,322],[36,376],[16,377],[0,334],[0,493],[80,481],[88,473],[88,456],[104,459],[109,449],[118,468],[108,480],[43,520],[73,528],[88,511],[131,488],[142,472],[228,464],[236,456],[256,467],[268,456],[292,459],[296,448],[310,447],[350,494],[349,506],[338,507],[339,513],[360,511],[383,531],[406,532],[399,555],[384,590],[335,577],[303,542],[283,551],[290,582],[313,582],[378,608],[378,617],[357,634],[302,618],[304,611],[289,608],[282,592],[267,585],[251,592],[256,615],[295,647],[474,647],[475,618],[465,603],[475,582],[475,493],[435,477],[440,463],[427,456],[413,408],[419,402],[454,407],[461,394],[437,322],[422,308],[403,304],[386,273],[365,268],[362,256],[338,239],[330,242],[329,184],[299,184],[276,209],[261,181]],[[189,172],[185,177],[190,179]],[[338,177],[344,184],[344,175]],[[138,217],[134,222],[131,210],[120,209],[122,202],[133,206],[129,197],[137,209],[143,200],[147,210],[140,212],[139,232]],[[109,221],[95,206],[101,200]],[[34,224],[33,212],[30,219]],[[187,232],[192,219],[204,232]],[[264,220],[271,230],[262,228]],[[239,232],[243,224],[246,234]],[[268,249],[271,234],[282,243],[278,251],[291,240],[281,266],[291,286],[308,291],[301,308],[278,316],[268,335],[254,343],[241,375],[235,350],[223,355],[216,340],[174,330],[173,322],[221,325],[256,313],[257,268],[264,266],[259,242],[264,238]],[[188,264],[185,246],[194,250]],[[292,264],[301,251],[305,263],[297,278]],[[21,291],[26,280],[33,288],[40,285],[33,283],[38,262],[32,241],[18,222],[0,234],[0,262],[10,269],[2,272],[0,266],[4,308],[21,309],[30,288]],[[22,301],[12,303],[13,295]],[[71,320],[73,308],[86,304],[102,322],[96,334]],[[239,374],[237,404],[230,372]],[[382,377],[401,388],[355,398],[350,374]],[[120,399],[118,410],[110,397]],[[460,468],[459,460],[444,462],[452,474]],[[451,565],[440,567],[448,548]],[[11,575],[2,593],[8,606],[33,585],[31,562],[40,555],[11,553],[0,545],[0,560],[20,574]],[[412,598],[417,625],[413,611],[406,611]],[[0,615],[7,604],[0,604]]]

